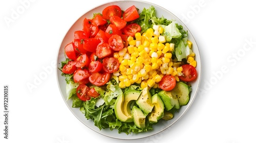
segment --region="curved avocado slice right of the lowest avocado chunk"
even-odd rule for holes
[[[157,121],[164,115],[164,104],[158,94],[152,96],[152,104],[154,105],[154,108],[148,116],[148,121],[150,123],[157,123]]]

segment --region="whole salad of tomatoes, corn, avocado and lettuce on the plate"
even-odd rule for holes
[[[197,79],[187,31],[157,17],[153,6],[139,13],[134,5],[111,5],[84,18],[65,56],[59,69],[67,100],[99,130],[153,130],[187,105],[189,83]]]

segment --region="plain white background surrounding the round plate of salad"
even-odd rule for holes
[[[0,2],[0,142],[121,141],[78,121],[63,101],[56,79],[62,38],[81,15],[107,2],[111,1]],[[201,85],[193,105],[171,129],[123,142],[255,142],[254,2],[148,2],[175,14],[193,33],[201,52]],[[36,81],[42,74],[44,79]],[[9,139],[3,134],[4,85],[9,85],[10,93]]]

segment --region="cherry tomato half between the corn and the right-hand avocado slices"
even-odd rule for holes
[[[165,75],[159,82],[159,87],[165,91],[170,91],[174,89],[176,85],[176,79],[172,75]]]

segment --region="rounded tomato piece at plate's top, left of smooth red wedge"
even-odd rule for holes
[[[112,6],[108,6],[108,7],[104,8],[102,11],[102,15],[105,19],[109,20],[110,16],[113,16],[113,15],[121,17],[122,11],[119,6],[112,5]]]

